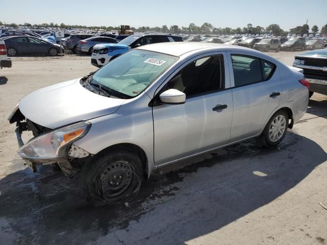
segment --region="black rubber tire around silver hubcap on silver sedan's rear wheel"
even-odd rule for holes
[[[271,127],[271,124],[272,124],[272,121],[277,118],[277,116],[279,115],[282,115],[285,117],[285,130],[283,132],[283,135],[281,135],[281,137],[276,140],[276,141],[272,141],[269,137],[269,130],[270,130],[270,127]],[[284,110],[279,110],[277,112],[275,112],[272,117],[269,119],[269,121],[267,122],[267,125],[264,129],[264,131],[262,132],[261,136],[259,137],[259,141],[260,143],[263,145],[263,146],[266,146],[266,147],[272,147],[272,146],[275,146],[277,144],[279,144],[285,137],[286,135],[286,132],[287,132],[287,129],[288,129],[288,114],[286,111]]]

